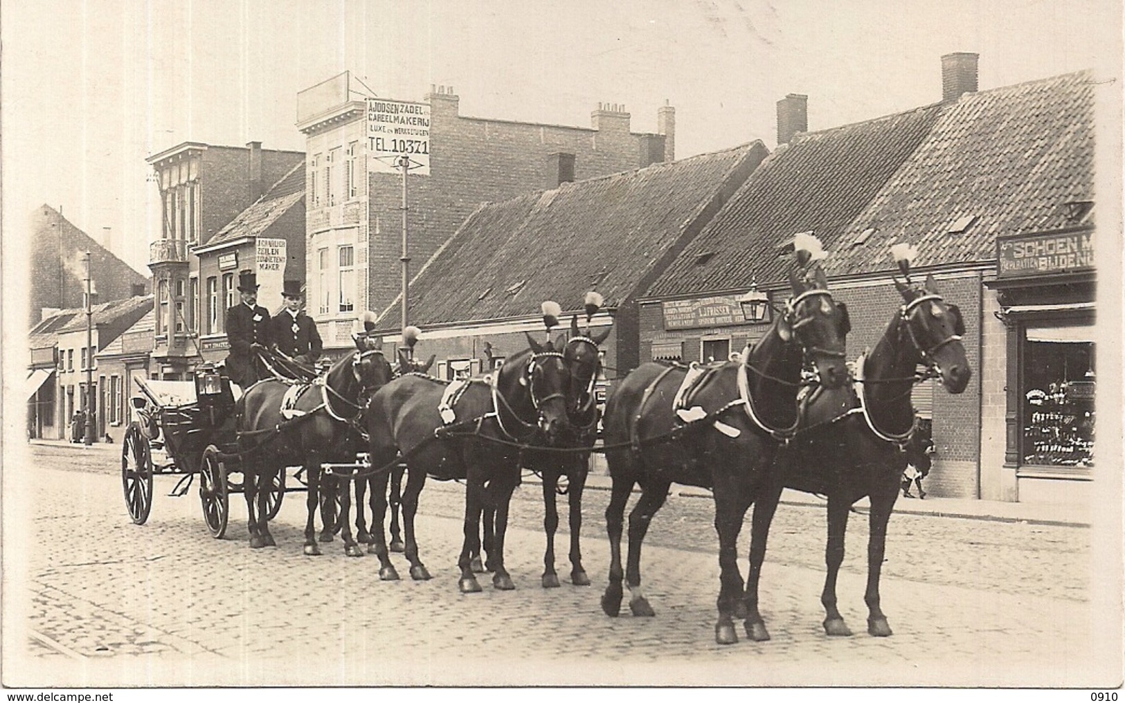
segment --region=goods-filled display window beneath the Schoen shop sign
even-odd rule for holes
[[[1024,341],[1025,465],[1094,466],[1091,327],[1028,328]]]

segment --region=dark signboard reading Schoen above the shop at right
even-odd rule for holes
[[[1094,233],[1017,234],[998,237],[997,278],[1092,271]]]

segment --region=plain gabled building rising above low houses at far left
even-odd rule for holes
[[[44,309],[79,308],[86,300],[86,252],[90,252],[93,285],[102,301],[145,295],[148,279],[88,234],[60,210],[42,206],[32,213],[29,251],[32,287],[28,324],[44,318]]]

